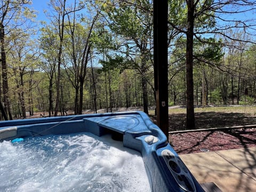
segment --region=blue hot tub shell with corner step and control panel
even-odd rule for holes
[[[204,191],[167,143],[164,133],[140,111],[0,122],[0,141],[13,141],[10,145],[19,145],[15,141],[45,135],[84,132],[97,137],[111,134],[113,139],[121,140],[124,147],[139,151],[151,191]]]

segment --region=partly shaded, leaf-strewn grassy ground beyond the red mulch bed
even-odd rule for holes
[[[150,118],[156,123],[156,116]],[[256,124],[256,107],[208,107],[195,109],[196,129]],[[169,131],[186,130],[186,109],[169,109]]]

